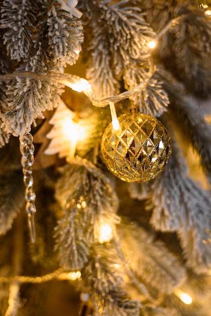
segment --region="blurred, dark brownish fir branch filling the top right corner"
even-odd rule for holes
[[[146,21],[158,34],[174,18],[181,17],[163,34],[153,52],[158,62],[185,85],[196,97],[210,97],[211,19],[194,2],[177,0],[160,3],[138,0]]]

